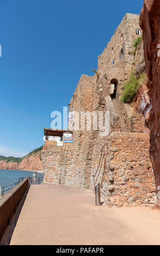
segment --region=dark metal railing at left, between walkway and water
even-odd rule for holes
[[[19,178],[19,180],[17,182],[15,182],[13,184],[9,184],[7,186],[1,187],[2,196],[3,196],[4,192],[7,192],[7,191],[11,190],[11,188],[15,187],[17,184],[19,184],[24,179],[28,179],[28,184],[32,185],[32,184],[41,184],[44,178],[43,177],[38,177],[38,178],[36,178],[35,182],[33,182],[33,178],[30,178],[29,176],[28,177],[21,177],[21,178]]]

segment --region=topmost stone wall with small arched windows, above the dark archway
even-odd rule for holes
[[[118,81],[118,97],[121,96],[122,84],[128,78],[134,60],[134,56],[128,53],[133,50],[133,40],[138,36],[137,28],[139,28],[139,15],[126,14],[107,47],[98,57],[97,72],[100,74],[99,83],[103,84],[104,94],[109,94],[110,81],[116,79]],[[120,40],[121,34],[124,36],[122,41]],[[113,54],[112,48],[114,49]],[[121,56],[122,48],[123,55]],[[112,59],[114,59],[114,65],[112,65]]]

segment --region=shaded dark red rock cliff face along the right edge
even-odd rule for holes
[[[160,185],[160,1],[144,0],[140,14],[140,27],[143,29],[144,58],[148,80],[148,95],[143,102],[145,123],[151,131],[150,156],[156,177],[156,187]],[[158,54],[159,52],[159,54]],[[158,204],[160,200],[158,199]]]

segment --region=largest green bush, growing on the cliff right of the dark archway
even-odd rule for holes
[[[144,82],[145,78],[145,73],[140,74],[139,79],[136,78],[135,74],[131,74],[130,79],[124,85],[124,92],[121,96],[120,101],[123,103],[131,103],[138,92],[140,84]]]

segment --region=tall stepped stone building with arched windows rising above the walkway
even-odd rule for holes
[[[155,176],[150,160],[150,131],[134,106],[122,103],[124,84],[131,70],[144,68],[143,44],[136,55],[133,40],[141,36],[139,15],[126,14],[98,57],[94,76],[82,75],[69,104],[69,129],[45,129],[41,151],[43,184],[74,185],[94,190],[101,184],[101,196],[109,206],[153,205]],[[137,107],[136,107],[137,106]],[[109,134],[99,129],[77,129],[75,113],[109,112]],[[87,119],[85,119],[87,121]],[[86,122],[85,122],[86,123]],[[50,141],[48,136],[59,137]],[[68,142],[69,143],[68,143]]]

